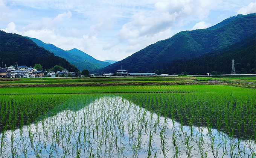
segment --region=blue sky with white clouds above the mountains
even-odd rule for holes
[[[256,12],[253,0],[0,0],[0,29],[98,60]]]

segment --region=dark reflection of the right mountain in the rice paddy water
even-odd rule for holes
[[[238,128],[236,118],[241,116],[238,115],[232,117],[230,115],[233,114],[233,111],[230,113],[229,111],[219,109],[222,107],[221,104],[223,104],[223,107],[224,105],[230,104],[229,99],[225,98],[224,96],[222,96],[222,102],[219,99],[215,100],[215,98],[212,97],[211,94],[207,93],[203,93],[203,95],[195,95],[192,93],[148,93],[145,95],[143,93],[136,93],[121,94],[121,96],[128,99],[130,102],[133,102],[134,104],[145,108],[146,110],[160,114],[161,116],[169,117],[186,126],[206,126],[209,129],[218,129],[219,131],[225,132],[226,134],[235,138],[242,138],[244,140],[255,140],[255,127],[253,126],[253,123],[246,123],[245,125],[241,124],[241,126],[239,126],[240,128]],[[239,101],[236,100],[237,98],[233,99],[233,102],[239,104]],[[235,120],[232,120],[232,118]],[[248,120],[246,121],[248,122]],[[229,129],[227,128],[227,126],[229,126]]]

